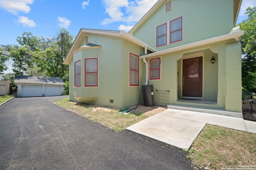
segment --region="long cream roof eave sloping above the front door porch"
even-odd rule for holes
[[[217,42],[225,41],[225,40],[228,40],[228,39],[236,39],[238,41],[238,39],[239,39],[239,37],[241,37],[241,35],[244,35],[244,31],[238,31],[238,32],[235,32],[235,33],[221,35],[219,37],[205,39],[205,40],[198,41],[198,42],[195,42],[195,43],[190,43],[190,44],[174,47],[174,48],[171,48],[171,49],[158,51],[158,52],[151,53],[151,54],[148,54],[148,55],[143,55],[143,56],[140,57],[140,59],[148,58],[148,57],[155,57],[155,56],[159,56],[159,55],[164,55],[166,53],[173,53],[173,52],[176,52],[176,51],[190,49],[190,48],[194,48],[194,47],[199,47],[199,46],[202,46],[202,45],[208,45],[208,44],[211,44],[211,43],[217,43]]]

